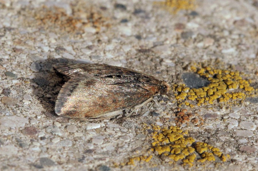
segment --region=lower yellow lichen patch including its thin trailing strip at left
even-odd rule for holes
[[[184,112],[186,110],[183,110]],[[151,134],[147,129],[155,130]],[[183,131],[177,126],[169,126],[161,128],[158,125],[143,124],[143,130],[146,130],[146,134],[153,140],[151,147],[148,148],[148,155],[133,156],[128,162],[121,163],[120,166],[133,165],[137,163],[149,162],[153,157],[152,154],[157,155],[161,160],[175,164],[177,161],[182,161],[183,166],[193,166],[195,161],[197,162],[213,162],[216,157],[219,157],[222,162],[225,162],[230,156],[222,154],[220,150],[214,146],[211,146],[205,142],[196,142],[192,137],[186,137],[188,131]],[[198,160],[196,160],[199,156]],[[196,163],[197,164],[197,163]],[[115,164],[114,164],[115,165]],[[118,164],[116,164],[118,167]]]

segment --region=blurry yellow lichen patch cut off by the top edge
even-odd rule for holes
[[[165,0],[155,2],[155,4],[165,5],[169,9],[172,8],[173,13],[177,13],[181,9],[194,9],[196,7],[195,0]]]

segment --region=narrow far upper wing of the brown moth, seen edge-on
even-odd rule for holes
[[[106,77],[109,75],[123,75],[133,77],[145,76],[150,77],[150,79],[156,79],[154,76],[149,74],[106,64],[56,64],[53,67],[58,72],[69,77],[76,76],[77,74],[92,74],[100,77]]]

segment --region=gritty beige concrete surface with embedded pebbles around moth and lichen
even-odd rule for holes
[[[0,170],[257,170],[257,92],[234,105],[185,107],[203,118],[180,125],[187,136],[230,155],[192,167],[148,153],[155,130],[143,125],[175,126],[179,118],[173,92],[173,100],[157,96],[144,115],[124,122],[129,110],[99,121],[54,113],[67,81],[56,63],[116,65],[173,85],[187,79],[189,63],[204,62],[234,66],[257,89],[258,1],[194,4],[175,12],[147,0],[0,0]],[[141,155],[153,157],[128,164]]]

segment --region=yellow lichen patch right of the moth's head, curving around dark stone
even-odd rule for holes
[[[177,99],[177,105],[182,104],[193,108],[195,105],[202,106],[232,101],[234,104],[246,97],[255,96],[255,90],[250,86],[250,80],[243,79],[243,73],[234,71],[234,67],[228,69],[215,69],[213,66],[204,66],[203,63],[194,64],[190,70],[210,83],[201,88],[189,88],[184,84],[175,84],[172,87]],[[246,76],[244,76],[246,77]],[[257,94],[257,93],[256,93]]]

